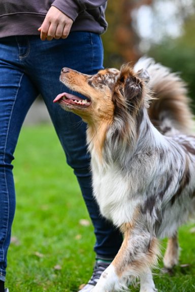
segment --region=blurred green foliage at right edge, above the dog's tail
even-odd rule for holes
[[[182,36],[166,39],[159,45],[153,45],[148,55],[157,62],[179,72],[187,84],[189,96],[195,103],[195,15],[186,20]],[[193,106],[195,112],[195,106]]]

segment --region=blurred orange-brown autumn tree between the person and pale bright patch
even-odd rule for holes
[[[141,5],[151,5],[152,0],[109,0],[106,18],[108,31],[103,35],[105,66],[119,67],[125,61],[136,61],[141,52],[140,38],[135,30],[132,11]]]

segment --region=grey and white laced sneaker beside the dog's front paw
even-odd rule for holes
[[[94,286],[96,285],[98,280],[100,279],[100,276],[102,275],[102,273],[106,270],[106,268],[109,265],[110,265],[110,263],[106,263],[106,262],[102,262],[102,261],[96,262],[95,266],[93,268],[93,273],[92,273],[90,280],[88,281],[88,283],[86,285],[80,286],[79,292],[90,292],[94,288]]]

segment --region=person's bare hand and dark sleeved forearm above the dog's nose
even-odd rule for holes
[[[66,39],[73,21],[81,11],[98,8],[106,2],[106,0],[55,0],[41,27],[38,28],[41,40]]]

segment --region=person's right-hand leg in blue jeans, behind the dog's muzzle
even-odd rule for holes
[[[102,68],[100,42],[98,35],[81,32],[71,33],[66,40],[53,40],[52,42],[39,43],[38,40],[32,38],[33,46],[37,46],[38,50],[34,50],[36,58],[32,67],[28,67],[28,71],[42,93],[66,153],[67,162],[74,169],[79,181],[94,226],[96,236],[94,250],[100,258],[113,259],[121,245],[122,236],[101,217],[99,207],[92,197],[90,157],[86,149],[86,125],[79,117],[64,112],[58,104],[53,104],[53,99],[58,93],[68,90],[59,82],[60,70],[63,66],[71,67],[85,74],[94,74]],[[30,54],[28,57],[32,60]]]

